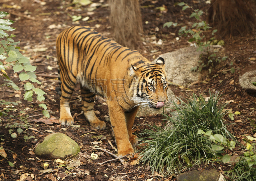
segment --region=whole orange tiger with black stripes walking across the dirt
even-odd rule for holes
[[[94,111],[95,95],[106,99],[117,154],[134,153],[138,144],[132,134],[140,105],[160,109],[168,101],[164,59],[153,64],[139,51],[130,50],[88,26],[64,29],[57,37],[56,51],[60,80],[60,119],[72,125],[69,102],[80,83],[82,111],[94,129],[106,129]]]

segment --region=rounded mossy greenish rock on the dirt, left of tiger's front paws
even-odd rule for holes
[[[63,133],[52,133],[36,146],[35,154],[51,159],[65,159],[80,152],[79,145]]]

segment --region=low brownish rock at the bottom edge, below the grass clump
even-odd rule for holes
[[[201,171],[190,171],[176,177],[177,181],[216,181],[220,178],[220,173],[215,169]],[[199,175],[200,174],[200,175]]]

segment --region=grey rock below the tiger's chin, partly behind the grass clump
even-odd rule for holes
[[[178,102],[178,99],[175,97],[174,93],[172,90],[169,88],[167,90],[167,95],[169,97],[169,101],[164,105],[164,112],[170,112],[171,109],[167,107],[172,107],[174,102]],[[149,108],[149,107],[143,107],[141,106],[136,114],[136,116],[155,116],[156,114],[161,114],[163,113],[163,108],[161,109],[154,109],[154,108]]]

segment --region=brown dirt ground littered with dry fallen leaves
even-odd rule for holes
[[[173,0],[140,0],[143,30],[142,41],[139,43],[138,51],[150,61],[155,59],[158,55],[166,52],[175,51],[179,48],[189,46],[188,38],[179,37],[179,28],[163,28],[165,22],[173,21],[178,24],[191,26],[193,20],[189,19],[191,12],[183,12],[179,6],[174,6],[176,1]],[[181,2],[179,0],[179,2]],[[80,125],[76,127],[61,127],[58,124],[59,119],[59,96],[55,91],[55,87],[58,86],[57,80],[57,59],[56,59],[56,46],[55,40],[57,35],[62,29],[79,25],[90,26],[96,31],[99,31],[103,35],[111,38],[111,31],[113,27],[110,27],[108,16],[109,7],[106,0],[94,0],[93,3],[101,3],[103,6],[97,7],[93,11],[88,11],[88,6],[78,7],[72,5],[71,0],[2,0],[0,2],[0,11],[10,12],[8,19],[16,21],[13,24],[14,28],[17,28],[12,33],[16,35],[15,41],[20,41],[20,49],[25,56],[31,57],[32,65],[37,66],[37,78],[43,85],[40,86],[47,95],[45,96],[44,104],[47,105],[50,110],[51,119],[42,120],[41,108],[37,103],[28,102],[23,100],[22,94],[24,94],[23,84],[25,82],[19,82],[18,74],[13,74],[12,70],[8,71],[11,79],[18,84],[21,88],[20,91],[13,91],[8,87],[2,88],[0,92],[0,99],[6,101],[20,101],[21,103],[15,107],[15,110],[11,112],[12,115],[18,116],[20,111],[24,111],[25,115],[29,117],[28,122],[31,128],[35,130],[26,130],[26,135],[34,136],[35,138],[29,139],[24,142],[24,133],[18,135],[17,138],[12,138],[9,134],[9,128],[5,128],[3,125],[10,122],[20,122],[19,117],[6,117],[0,118],[1,129],[0,135],[1,145],[4,146],[7,159],[0,160],[0,180],[19,180],[22,174],[37,175],[37,180],[54,180],[56,176],[55,172],[41,174],[40,170],[44,170],[42,163],[48,162],[49,168],[56,168],[56,163],[53,160],[41,160],[37,158],[33,152],[34,148],[39,142],[42,142],[45,136],[53,132],[62,132],[74,139],[81,147],[81,153],[76,156],[81,163],[76,169],[64,169],[60,167],[57,172],[57,178],[59,180],[111,180],[111,177],[119,177],[123,180],[175,180],[175,177],[169,175],[167,177],[161,177],[154,175],[151,172],[150,167],[147,164],[134,164],[136,156],[133,158],[124,158],[125,164],[121,164],[120,161],[110,161],[108,163],[99,165],[97,163],[114,159],[113,156],[102,152],[97,148],[105,148],[112,153],[115,152],[115,139],[112,134],[111,125],[108,118],[108,107],[102,102],[95,103],[95,111],[99,111],[98,115],[100,120],[105,120],[107,123],[107,129],[104,131],[94,130],[89,123],[85,120],[84,115],[78,115],[75,118],[74,125]],[[193,6],[194,9],[203,10],[205,13],[203,18],[206,19],[206,11],[209,8],[209,4],[206,4],[204,0],[187,1],[188,4]],[[164,6],[167,11],[160,12],[156,7]],[[255,6],[255,5],[253,5]],[[256,8],[253,8],[256,13]],[[79,22],[72,22],[70,16],[81,15],[82,18],[89,16],[89,20]],[[146,21],[148,23],[146,24]],[[192,23],[191,23],[192,21]],[[202,77],[201,82],[193,85],[188,89],[182,89],[182,87],[170,85],[169,89],[172,89],[176,96],[180,98],[188,98],[189,95],[195,93],[198,95],[201,93],[205,97],[209,96],[209,89],[211,92],[222,92],[221,101],[233,100],[225,108],[231,109],[232,112],[239,111],[241,114],[234,116],[234,121],[231,121],[228,116],[225,116],[226,123],[228,124],[228,130],[236,136],[238,140],[243,143],[243,136],[253,136],[253,128],[250,126],[249,118],[256,120],[256,114],[254,112],[256,108],[256,94],[255,92],[247,92],[243,90],[238,84],[238,77],[243,75],[244,72],[255,70],[255,61],[250,58],[256,58],[256,42],[255,35],[230,36],[220,37],[217,39],[223,39],[225,41],[224,48],[228,59],[221,64],[216,70],[213,71],[208,77]],[[152,43],[161,39],[162,45]],[[230,66],[230,62],[234,62],[233,66]],[[230,72],[230,68],[235,68],[235,73]],[[226,71],[223,71],[226,70]],[[3,79],[0,78],[0,81]],[[73,94],[71,100],[71,114],[81,113],[81,97],[79,88]],[[4,106],[0,106],[1,109]],[[139,117],[135,118],[133,131],[138,134],[141,130],[147,128],[148,125],[157,123],[163,119],[162,116],[155,117]],[[240,120],[240,121],[239,121]],[[15,130],[15,128],[13,128]],[[40,131],[40,132],[38,132]],[[18,132],[15,130],[18,134]],[[99,137],[102,135],[101,137]],[[94,145],[92,142],[99,142]],[[112,144],[112,146],[111,146]],[[237,155],[241,154],[238,150],[235,150]],[[97,160],[91,159],[92,152],[97,153],[100,157]],[[13,156],[16,153],[17,156]],[[11,167],[8,161],[14,164]],[[216,169],[221,167],[222,170],[226,170],[226,166],[220,166],[218,164],[213,165]],[[193,169],[202,169],[204,165],[196,166]],[[205,169],[212,168],[207,166]],[[20,171],[16,171],[20,170]],[[187,171],[187,170],[186,170]],[[83,174],[83,173],[86,174]],[[53,174],[53,175],[52,175]],[[32,180],[31,175],[27,177],[27,180]],[[34,178],[35,179],[35,178]],[[33,180],[34,180],[33,179]],[[113,180],[113,179],[112,179]]]

